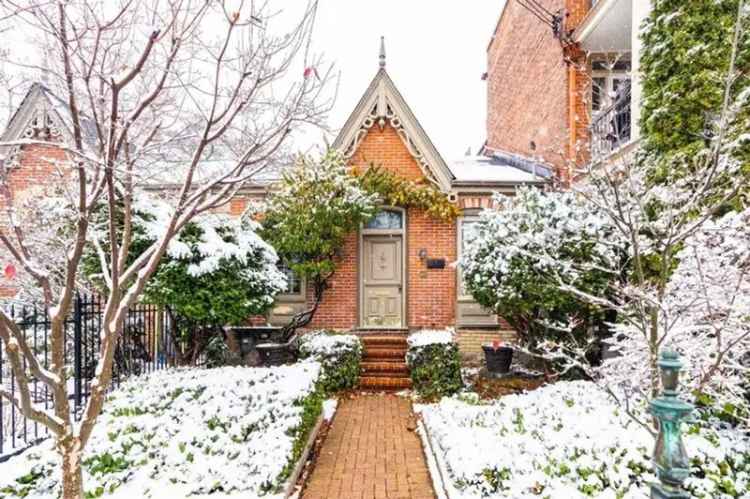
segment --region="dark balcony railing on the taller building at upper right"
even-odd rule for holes
[[[591,157],[602,159],[630,141],[630,83],[624,83],[614,102],[591,123]]]

